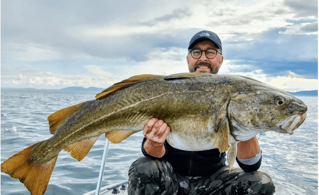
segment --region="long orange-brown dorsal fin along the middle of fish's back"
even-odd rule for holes
[[[121,82],[115,83],[114,85],[105,89],[101,93],[97,94],[95,96],[95,98],[96,99],[103,99],[103,98],[107,97],[109,94],[111,94],[112,92],[119,90],[119,89],[123,89],[125,87],[128,87],[131,84],[155,80],[155,79],[161,79],[163,77],[164,77],[163,75],[156,75],[156,74],[141,74],[141,75],[132,76],[132,77],[125,79]]]

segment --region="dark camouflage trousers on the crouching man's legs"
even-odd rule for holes
[[[275,186],[261,171],[230,171],[223,167],[211,176],[181,176],[166,160],[141,157],[129,169],[129,195],[271,195]]]

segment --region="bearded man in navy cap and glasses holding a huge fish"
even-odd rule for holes
[[[217,74],[223,63],[218,35],[200,31],[189,43],[186,57],[189,71]],[[218,149],[183,151],[166,142],[169,126],[156,118],[146,122],[142,142],[145,157],[129,170],[129,195],[137,194],[273,194],[274,184],[266,173],[257,171],[261,150],[256,137],[238,144],[236,161],[242,168],[229,173],[226,153]]]

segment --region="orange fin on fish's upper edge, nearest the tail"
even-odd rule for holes
[[[54,134],[56,130],[58,130],[59,126],[67,119],[69,116],[80,109],[82,107],[83,103],[72,105],[70,107],[64,108],[62,110],[56,111],[55,113],[48,116],[49,121],[49,127],[50,127],[50,133]]]

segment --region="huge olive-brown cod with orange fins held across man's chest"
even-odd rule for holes
[[[96,99],[64,108],[48,117],[53,136],[33,144],[1,164],[32,195],[43,195],[59,152],[82,160],[98,137],[119,143],[143,130],[149,119],[171,128],[175,148],[229,151],[230,168],[237,143],[265,131],[293,134],[307,106],[290,94],[245,76],[205,73],[137,75],[116,83]]]

